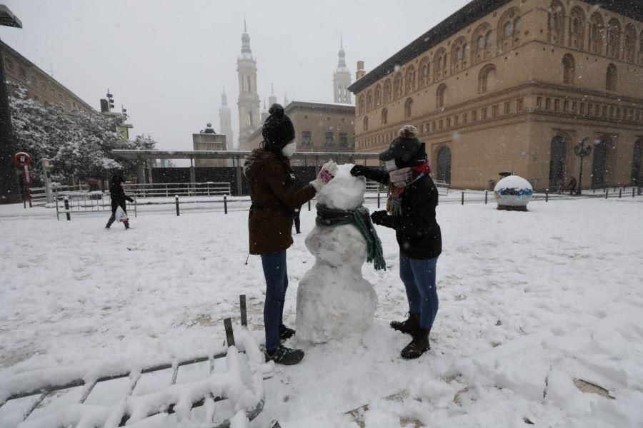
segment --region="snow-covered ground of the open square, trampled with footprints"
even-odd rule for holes
[[[180,217],[141,209],[128,231],[103,230],[109,213],[67,222],[46,208],[25,216],[21,206],[0,206],[0,390],[31,370],[205,355],[223,342],[221,320],[238,317],[240,294],[263,341],[261,260],[244,264],[247,212],[239,204],[228,215],[218,204]],[[374,210],[374,200],[367,206]],[[387,428],[642,427],[643,198],[529,208],[439,206],[440,309],[432,350],[414,361],[399,357],[409,337],[388,327],[407,303],[394,234],[378,228],[388,270],[363,269],[379,297],[374,327],[276,367],[251,427],[272,419],[284,428],[356,420]],[[314,263],[304,246],[314,208],[301,223],[288,253],[288,325],[297,282]],[[32,417],[66,402],[56,394]],[[9,404],[0,408],[3,428],[20,411]]]

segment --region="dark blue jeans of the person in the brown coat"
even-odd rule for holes
[[[266,302],[264,302],[264,330],[266,349],[274,350],[279,342],[279,325],[283,323],[284,301],[288,288],[286,251],[261,255],[261,265],[266,277]]]

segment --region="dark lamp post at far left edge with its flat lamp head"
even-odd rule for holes
[[[22,28],[21,21],[8,7],[0,4],[0,25]],[[0,203],[20,201],[20,189],[14,167],[14,133],[9,113],[9,92],[4,76],[4,55],[0,41]]]

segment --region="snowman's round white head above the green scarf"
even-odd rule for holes
[[[317,194],[317,201],[336,210],[357,210],[364,203],[366,179],[351,175],[352,163],[338,165],[330,183]]]

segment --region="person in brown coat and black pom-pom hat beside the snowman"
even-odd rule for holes
[[[337,165],[333,161],[324,164],[315,180],[294,190],[294,171],[289,161],[296,149],[294,126],[279,104],[273,104],[269,114],[261,129],[264,141],[244,163],[252,201],[248,218],[250,254],[261,255],[266,279],[266,361],[293,365],[301,361],[304,351],[281,345],[281,340],[295,334],[283,322],[288,287],[286,250],[293,243],[293,213],[332,180]]]

